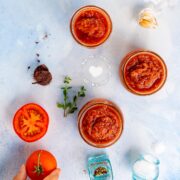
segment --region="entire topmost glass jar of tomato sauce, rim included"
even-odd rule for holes
[[[74,39],[86,47],[104,43],[111,34],[112,22],[108,13],[97,6],[85,6],[77,10],[70,23]]]

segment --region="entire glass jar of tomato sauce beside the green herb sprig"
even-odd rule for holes
[[[114,144],[121,136],[124,120],[121,110],[106,99],[93,99],[78,114],[81,137],[89,145],[104,148]]]

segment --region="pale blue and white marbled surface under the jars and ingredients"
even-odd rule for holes
[[[10,180],[34,150],[51,151],[62,169],[61,180],[86,180],[87,157],[108,153],[115,180],[130,180],[131,165],[140,153],[152,152],[152,144],[165,146],[159,155],[160,180],[180,179],[180,6],[159,15],[159,27],[147,30],[136,23],[143,0],[0,0],[0,179]],[[106,9],[113,21],[108,41],[96,49],[78,45],[69,31],[75,10],[94,4]],[[48,38],[43,39],[45,33]],[[39,44],[35,42],[39,41]],[[136,48],[160,54],[168,66],[168,79],[161,91],[139,97],[129,93],[119,81],[118,66],[122,57]],[[36,53],[53,74],[49,86],[32,85]],[[56,108],[61,100],[64,75],[73,77],[73,85],[83,80],[79,66],[89,55],[106,56],[112,66],[112,78],[102,87],[87,87],[80,103],[103,97],[117,103],[125,118],[121,139],[112,147],[96,149],[87,145],[77,128],[77,113],[64,119]],[[30,70],[27,70],[28,66]],[[25,143],[15,134],[12,118],[25,103],[42,105],[50,116],[44,138]]]

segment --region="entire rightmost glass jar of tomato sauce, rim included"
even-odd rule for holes
[[[167,78],[167,67],[155,52],[136,50],[124,57],[119,73],[130,92],[150,95],[163,87]]]

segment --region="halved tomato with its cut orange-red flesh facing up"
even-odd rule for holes
[[[26,142],[34,142],[42,138],[47,132],[48,125],[47,112],[34,103],[22,106],[13,119],[16,134]]]

